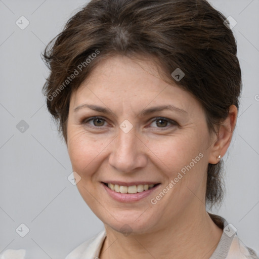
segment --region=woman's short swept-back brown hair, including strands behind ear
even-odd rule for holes
[[[92,0],[69,19],[43,54],[51,70],[43,88],[47,107],[65,141],[72,91],[112,55],[155,58],[165,80],[199,100],[209,132],[217,133],[229,107],[239,107],[241,91],[236,41],[225,19],[205,0]],[[181,81],[171,76],[177,68],[185,73]],[[208,164],[210,207],[220,204],[223,188],[222,161]]]

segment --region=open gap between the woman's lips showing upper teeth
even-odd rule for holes
[[[102,182],[103,183],[103,182]],[[133,185],[133,186],[120,186],[117,184],[111,184],[111,183],[103,183],[106,185],[109,189],[112,191],[118,192],[118,193],[140,193],[148,191],[154,187],[156,187],[159,184],[139,184],[139,185]]]

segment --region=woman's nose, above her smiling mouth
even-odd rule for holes
[[[133,172],[147,165],[147,147],[136,135],[134,127],[128,133],[119,129],[112,144],[109,163],[119,172]]]

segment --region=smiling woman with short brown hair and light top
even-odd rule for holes
[[[258,258],[206,208],[241,91],[226,17],[205,0],[95,0],[46,48],[47,106],[105,230],[70,258]]]

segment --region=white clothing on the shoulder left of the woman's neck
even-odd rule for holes
[[[101,246],[103,244],[103,241],[106,237],[105,230],[99,232],[89,240],[83,242],[79,246],[77,246],[75,249],[73,249],[65,259],[92,259],[95,258],[95,256],[98,256],[99,251],[101,249]]]

